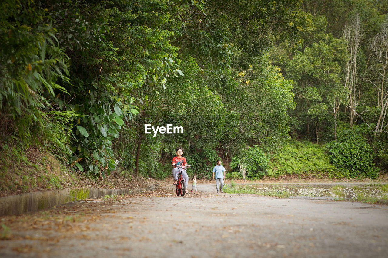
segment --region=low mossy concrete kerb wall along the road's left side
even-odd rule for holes
[[[152,190],[157,184],[135,189],[102,189],[83,187],[5,196],[0,198],[0,216],[24,212],[36,212],[45,208],[61,205],[69,201],[98,198],[112,194],[137,194]]]

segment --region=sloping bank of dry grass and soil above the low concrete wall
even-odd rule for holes
[[[16,144],[13,148],[7,145],[3,147],[3,155],[0,156],[0,196],[66,187],[126,189],[144,187],[152,182],[122,168],[100,181],[97,177],[73,172],[66,160],[38,148],[23,150]]]

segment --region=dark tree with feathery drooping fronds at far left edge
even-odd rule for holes
[[[0,3],[1,144],[45,146],[69,153],[66,123],[73,117],[59,95],[68,95],[68,55],[47,9],[32,1]]]

